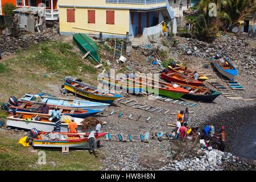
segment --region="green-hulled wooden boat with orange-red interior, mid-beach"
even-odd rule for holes
[[[181,88],[179,85],[174,87],[172,84],[162,85],[159,84],[159,82],[151,82],[151,84],[149,84],[148,81],[143,78],[126,78],[126,81],[130,84],[145,86],[147,92],[174,99],[179,99],[184,94],[188,93],[188,90]]]

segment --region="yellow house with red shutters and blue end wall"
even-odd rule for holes
[[[102,32],[103,37],[133,38],[173,18],[167,0],[59,0],[61,35]]]

